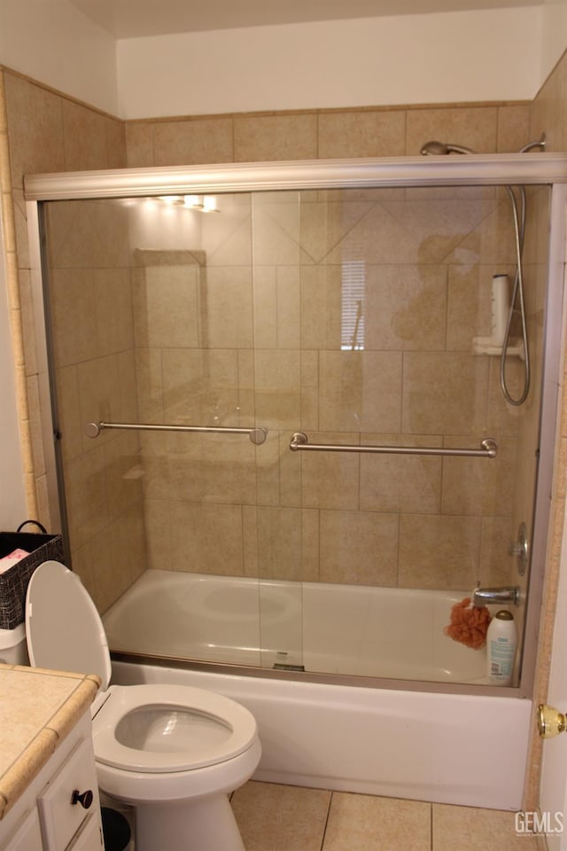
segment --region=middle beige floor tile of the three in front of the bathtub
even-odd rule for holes
[[[334,792],[325,851],[429,851],[431,806],[423,801]],[[437,849],[436,849],[437,851]]]

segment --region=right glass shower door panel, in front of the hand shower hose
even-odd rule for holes
[[[486,345],[493,277],[511,290],[516,269],[506,191],[254,198],[256,406],[279,441],[259,574],[296,595],[307,671],[485,682],[484,649],[445,627],[476,585],[519,582],[509,540],[533,510],[535,462],[527,472],[517,447],[535,458],[546,204],[528,193],[532,389],[516,408]],[[506,372],[516,393],[522,359]]]

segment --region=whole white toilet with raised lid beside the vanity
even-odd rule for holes
[[[109,685],[97,608],[57,561],[29,582],[26,636],[33,666],[100,676],[92,706],[98,785],[136,808],[136,851],[245,851],[228,798],[260,761],[245,707],[184,685]]]

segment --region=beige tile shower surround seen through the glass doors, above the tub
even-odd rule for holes
[[[492,189],[286,192],[252,206],[223,196],[221,208],[200,217],[195,252],[132,252],[128,229],[142,226],[133,207],[51,205],[79,558],[94,538],[110,530],[117,542],[136,527],[129,584],[144,564],[144,511],[152,567],[464,591],[507,582],[517,411],[501,398],[498,363],[470,347],[490,332],[493,273],[512,268],[508,199]],[[345,352],[341,275],[361,256],[364,350]],[[526,277],[537,270],[526,265]],[[529,292],[536,315],[538,287]],[[82,434],[97,418],[254,417],[269,429],[258,449],[235,436]],[[318,442],[478,447],[494,435],[500,449],[490,462],[299,457],[288,449],[298,428]]]

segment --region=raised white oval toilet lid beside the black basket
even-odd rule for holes
[[[111,676],[105,628],[77,574],[58,561],[35,569],[27,586],[26,636],[35,668],[97,674],[102,689]]]

